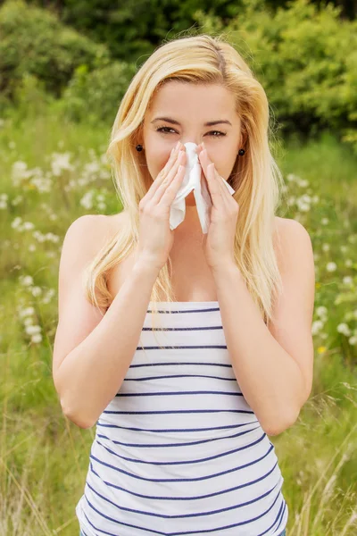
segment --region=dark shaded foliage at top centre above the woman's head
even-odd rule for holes
[[[133,63],[152,54],[169,34],[193,27],[197,9],[226,21],[239,13],[242,4],[241,0],[35,1],[54,6],[62,22],[104,43],[113,58]],[[30,2],[33,4],[34,0]]]

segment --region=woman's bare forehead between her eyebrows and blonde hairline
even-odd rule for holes
[[[175,80],[167,82],[154,95],[148,114],[160,113],[179,116],[181,119],[203,117],[228,119],[236,115],[236,99],[232,92],[217,84],[192,84]],[[217,115],[217,117],[213,117]]]

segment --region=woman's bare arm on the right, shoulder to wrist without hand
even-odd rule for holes
[[[294,220],[283,222],[284,294],[267,327],[236,264],[214,272],[224,333],[237,381],[262,428],[277,435],[295,423],[310,395],[314,263],[311,240]]]

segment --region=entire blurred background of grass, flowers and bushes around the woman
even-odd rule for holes
[[[62,239],[122,206],[104,153],[129,81],[172,38],[226,34],[265,89],[316,271],[311,398],[270,438],[288,536],[357,533],[356,3],[0,2],[0,534],[78,536],[95,429],[62,415],[52,380]]]

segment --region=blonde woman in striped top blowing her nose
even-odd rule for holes
[[[120,103],[108,154],[124,210],[73,222],[60,264],[54,384],[73,423],[96,424],[85,536],[286,534],[268,436],[311,392],[314,264],[303,226],[275,216],[268,132],[262,86],[206,35],[156,49]],[[204,234],[193,191],[170,225],[188,142],[212,199]]]

